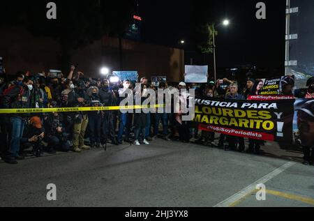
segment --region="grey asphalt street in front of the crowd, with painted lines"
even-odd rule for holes
[[[264,148],[271,148],[265,146]],[[47,185],[57,200],[47,200]],[[267,189],[256,199],[256,185]],[[0,160],[0,206],[314,206],[314,167],[269,156],[166,142]]]

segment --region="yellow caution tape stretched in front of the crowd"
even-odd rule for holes
[[[0,114],[30,114],[51,112],[95,112],[126,109],[150,109],[165,107],[165,105],[131,105],[111,107],[55,107],[55,108],[25,108],[25,109],[0,109]]]

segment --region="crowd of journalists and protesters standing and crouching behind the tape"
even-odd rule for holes
[[[0,105],[2,109],[47,107],[99,107],[119,106],[121,94],[135,89],[135,82],[124,80],[111,84],[109,79],[87,79],[71,66],[68,77],[38,74],[29,76],[19,72],[15,79],[0,79]],[[140,79],[140,96],[147,98],[146,89],[195,89],[198,98],[246,100],[258,94],[260,80],[248,77],[244,89],[229,79],[209,81],[207,84],[167,84],[158,87],[149,84],[146,77]],[[43,152],[81,151],[104,147],[108,141],[114,145],[123,142],[139,146],[149,145],[161,138],[170,142],[177,139],[197,144],[218,146],[225,150],[260,153],[263,141],[249,139],[246,149],[244,138],[220,134],[218,144],[215,133],[199,131],[192,121],[182,121],[181,114],[171,113],[123,113],[117,110],[91,112],[52,112],[35,114],[0,115],[1,158],[10,164],[24,159],[24,151],[31,150],[40,157]],[[9,126],[8,126],[9,125]],[[162,132],[159,130],[162,125]]]

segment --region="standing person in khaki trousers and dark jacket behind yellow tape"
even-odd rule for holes
[[[85,92],[85,84],[82,80],[77,83],[77,87],[68,93],[68,107],[87,107],[89,96]],[[90,146],[84,144],[85,131],[89,123],[87,113],[73,112],[71,120],[74,123],[73,129],[73,151],[80,153],[87,150]]]

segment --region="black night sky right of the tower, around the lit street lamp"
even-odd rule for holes
[[[218,67],[255,64],[260,68],[283,67],[285,59],[285,0],[263,1],[267,19],[257,20],[254,0],[145,1],[139,0],[142,16],[142,40],[180,47],[195,48],[197,22],[230,20],[227,28],[218,28],[216,56]]]

